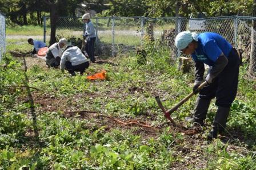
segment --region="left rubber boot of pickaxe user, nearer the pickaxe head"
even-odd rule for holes
[[[186,117],[186,121],[194,122],[194,125],[197,126],[205,126],[205,123],[203,121],[206,118],[207,111],[210,106],[211,99],[203,99],[198,97],[197,101],[195,102],[195,107],[194,107],[194,117],[189,118]]]

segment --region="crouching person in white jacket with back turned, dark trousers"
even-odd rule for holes
[[[89,59],[83,55],[81,49],[76,46],[69,45],[65,47],[61,56],[61,70],[66,69],[71,76],[75,76],[75,72],[82,75],[85,69],[89,67]]]

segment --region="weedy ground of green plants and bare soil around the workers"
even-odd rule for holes
[[[207,144],[216,106],[211,104],[202,133],[191,136],[169,126],[154,96],[171,108],[191,92],[193,71],[182,74],[169,51],[144,45],[145,64],[138,63],[140,56],[105,56],[101,64],[91,64],[86,74],[105,69],[105,81],[69,77],[31,57],[24,58],[25,72],[23,58],[7,53],[7,66],[0,67],[0,169],[255,169],[256,92],[246,67],[227,128],[234,139]],[[30,47],[7,42],[7,51]],[[195,99],[171,115],[175,121],[184,123]],[[123,126],[86,111],[159,129]]]

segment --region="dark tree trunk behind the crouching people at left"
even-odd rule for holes
[[[50,36],[50,45],[57,42],[56,40],[56,23],[58,19],[58,6],[55,3],[50,5],[50,21],[51,21],[51,36]]]

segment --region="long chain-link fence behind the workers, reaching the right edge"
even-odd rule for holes
[[[97,40],[97,55],[115,56],[135,53],[143,45],[145,35],[155,42],[155,48],[166,48],[170,56],[180,56],[174,44],[175,36],[181,31],[217,32],[234,47],[241,49],[243,60],[249,64],[250,72],[256,71],[255,17],[223,16],[216,18],[145,18],[110,17],[91,18]],[[45,18],[45,30],[49,28],[49,18]],[[50,32],[49,32],[50,34]],[[50,38],[45,32],[44,39]],[[74,45],[82,44],[83,23],[81,18],[61,17],[57,21],[57,39],[65,37]],[[80,43],[79,43],[80,42]]]

